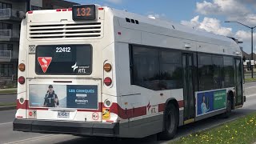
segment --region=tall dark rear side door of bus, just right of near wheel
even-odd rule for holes
[[[193,54],[182,54],[184,123],[194,122]]]

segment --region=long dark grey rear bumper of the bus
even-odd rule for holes
[[[43,134],[118,137],[119,123],[64,122],[16,118],[13,122],[13,130]]]

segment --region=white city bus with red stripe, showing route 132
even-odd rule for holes
[[[13,130],[171,139],[246,101],[231,38],[108,6],[28,11]]]

